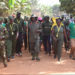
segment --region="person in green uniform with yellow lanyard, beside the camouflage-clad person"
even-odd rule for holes
[[[15,50],[16,50],[16,36],[17,36],[17,25],[14,23],[13,17],[9,16],[9,23],[6,25],[6,28],[9,33],[9,37],[6,41],[7,47],[7,57],[8,61],[10,61],[10,57],[14,58]]]

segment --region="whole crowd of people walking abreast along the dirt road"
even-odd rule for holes
[[[28,41],[27,41],[28,39]],[[0,59],[7,67],[7,61],[14,59],[14,56],[22,56],[22,46],[24,42],[32,55],[32,60],[40,61],[39,53],[41,45],[44,46],[45,54],[54,53],[54,59],[61,59],[62,46],[70,51],[70,58],[75,59],[75,19],[43,18],[32,15],[21,18],[21,13],[17,12],[16,17],[0,17]]]

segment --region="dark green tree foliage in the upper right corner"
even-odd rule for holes
[[[75,0],[59,0],[61,3],[61,10],[75,15]]]

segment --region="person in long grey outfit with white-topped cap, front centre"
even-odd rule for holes
[[[32,55],[32,60],[40,60],[39,51],[40,51],[40,24],[37,22],[35,16],[31,17],[31,23],[29,25],[29,43],[30,43],[30,52]]]

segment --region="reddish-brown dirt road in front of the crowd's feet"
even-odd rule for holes
[[[69,54],[63,50],[62,60],[59,63],[53,55],[45,55],[40,52],[40,61],[31,60],[28,51],[23,51],[22,57],[15,56],[15,59],[4,68],[0,63],[0,74],[2,75],[75,75],[75,61],[69,59]],[[59,74],[58,74],[59,73]],[[63,73],[63,74],[62,74]]]

